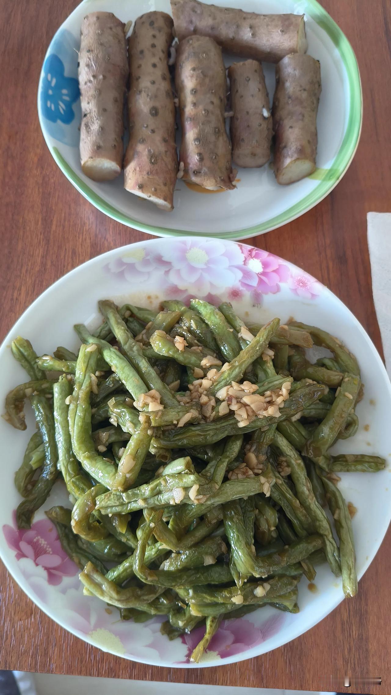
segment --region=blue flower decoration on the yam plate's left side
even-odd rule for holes
[[[75,114],[72,104],[79,97],[78,81],[66,77],[63,61],[55,54],[44,62],[41,90],[42,113],[47,120],[69,124]]]

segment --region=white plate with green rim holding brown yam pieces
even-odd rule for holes
[[[123,174],[97,183],[85,177],[78,152],[81,121],[77,60],[83,17],[97,10],[113,12],[123,22],[150,10],[170,13],[169,0],[83,0],[58,29],[44,59],[38,88],[42,133],[53,158],[69,181],[95,207],[111,218],[156,236],[187,233],[243,239],[281,227],[313,208],[346,172],[360,138],[363,101],[353,49],[333,19],[316,0],[217,0],[217,4],[258,13],[304,13],[308,53],[320,60],[322,95],[317,116],[317,170],[290,186],[278,186],[269,165],[238,170],[233,191],[202,195],[183,181],[167,213],[124,190]],[[231,60],[226,57],[226,64]],[[263,64],[272,100],[274,65]],[[206,192],[208,194],[212,192]]]

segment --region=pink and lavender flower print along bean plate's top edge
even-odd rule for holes
[[[249,296],[261,304],[264,295],[276,294],[281,285],[303,299],[314,299],[322,285],[278,256],[222,239],[183,238],[167,247],[138,247],[106,265],[108,272],[129,283],[160,286],[167,298],[188,301],[202,297],[219,303],[222,291],[228,300]]]

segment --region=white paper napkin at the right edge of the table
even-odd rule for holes
[[[372,293],[383,342],[385,368],[391,379],[391,213],[368,213],[367,230]]]

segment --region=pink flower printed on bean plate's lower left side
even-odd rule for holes
[[[63,577],[73,577],[78,567],[61,548],[58,534],[49,519],[40,519],[30,529],[18,529],[15,512],[13,526],[3,525],[8,548],[15,550],[17,560],[28,557],[47,573],[48,584],[60,584]]]

